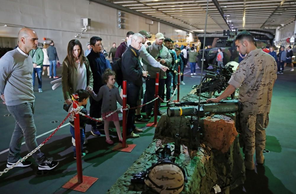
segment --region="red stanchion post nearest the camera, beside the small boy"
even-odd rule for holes
[[[74,95],[74,94],[73,94]],[[78,101],[73,101],[73,108],[78,108]],[[77,166],[77,178],[78,183],[83,182],[82,178],[82,163],[81,163],[81,142],[80,142],[80,125],[79,125],[79,113],[75,114],[74,118],[74,130],[75,130],[75,145],[76,145],[76,166]]]

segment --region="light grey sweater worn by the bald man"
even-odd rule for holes
[[[18,49],[7,52],[0,59],[0,95],[7,106],[35,101],[32,85],[33,61]]]

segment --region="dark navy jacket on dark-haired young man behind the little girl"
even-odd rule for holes
[[[105,56],[100,52],[96,53],[91,49],[91,52],[86,56],[89,59],[89,67],[94,79],[94,93],[98,93],[99,89],[105,84],[102,80],[102,75],[108,68]]]

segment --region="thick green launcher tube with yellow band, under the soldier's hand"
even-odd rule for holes
[[[225,113],[242,111],[242,103],[238,100],[220,101],[218,103],[201,104],[200,111],[198,112],[198,106],[187,107],[168,107],[167,114],[169,117],[174,116],[191,116],[192,113],[198,116],[207,116],[211,113]],[[197,114],[198,113],[198,114]]]

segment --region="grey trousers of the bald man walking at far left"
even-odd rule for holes
[[[7,106],[7,110],[15,118],[15,130],[9,144],[8,162],[17,162],[20,157],[20,146],[25,138],[29,152],[38,147],[36,142],[36,126],[33,118],[34,103],[23,103],[15,106]],[[32,154],[37,164],[42,164],[46,158],[38,149]]]

